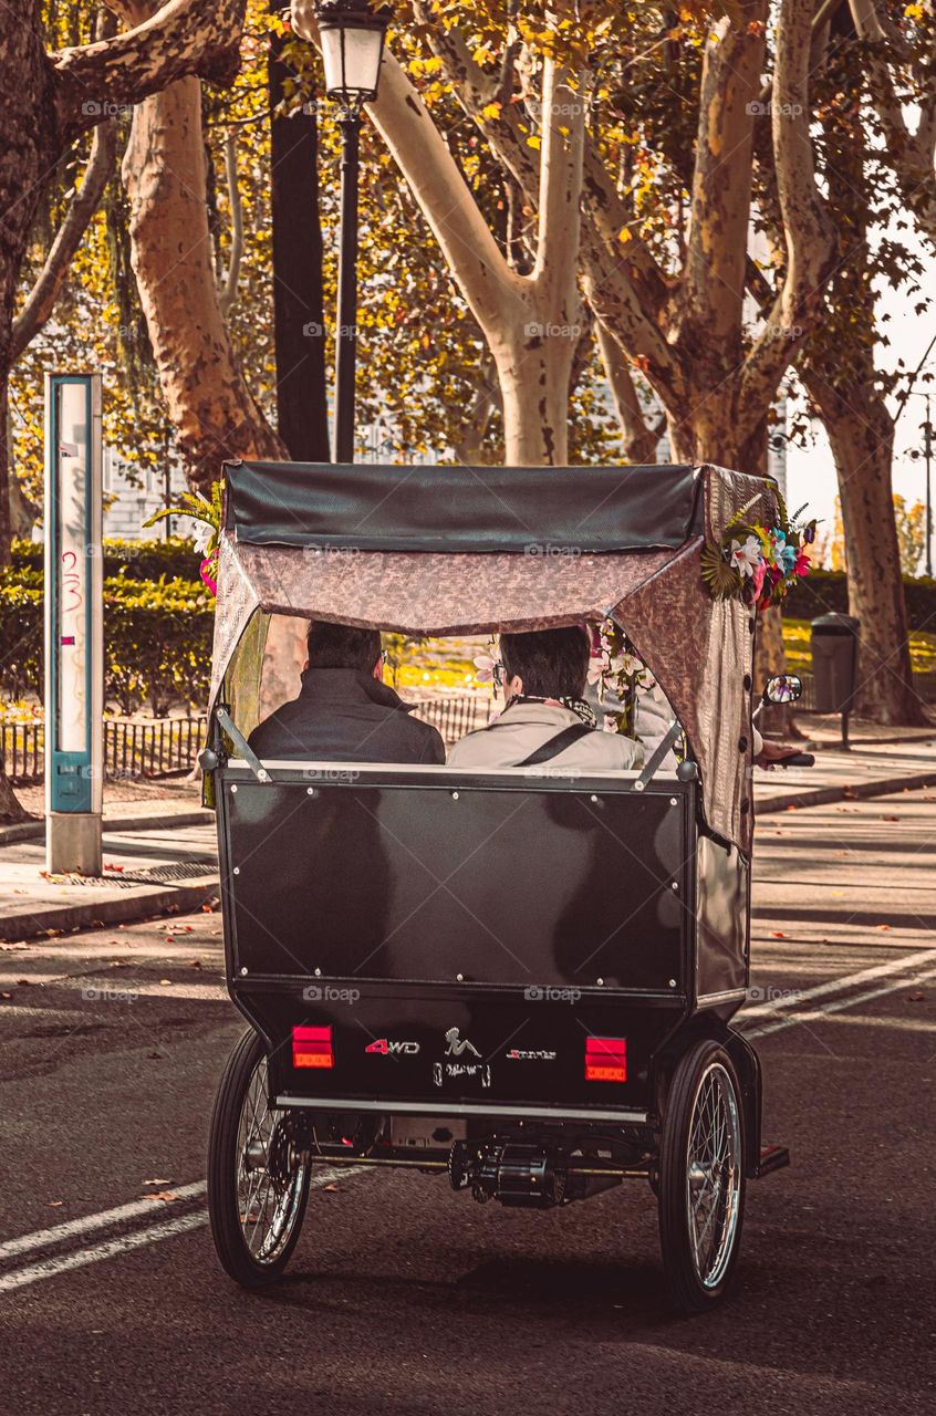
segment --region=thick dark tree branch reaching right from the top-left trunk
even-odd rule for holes
[[[115,38],[52,55],[62,140],[95,127],[113,108],[139,103],[186,75],[229,82],[239,68],[245,6],[246,0],[167,0]]]

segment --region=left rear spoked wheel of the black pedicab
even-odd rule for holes
[[[221,1078],[208,1143],[211,1236],[236,1283],[255,1289],[280,1276],[299,1239],[309,1178],[289,1113],[269,1104],[266,1051],[251,1028]]]

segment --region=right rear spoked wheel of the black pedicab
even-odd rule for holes
[[[741,1247],[743,1107],[738,1073],[711,1039],[680,1061],[660,1143],[660,1245],[674,1306],[701,1313],[724,1297]]]

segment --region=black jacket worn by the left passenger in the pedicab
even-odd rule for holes
[[[387,684],[355,668],[309,668],[299,698],[249,736],[258,758],[310,762],[445,762],[435,728]]]

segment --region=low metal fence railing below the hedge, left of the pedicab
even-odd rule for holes
[[[103,775],[115,779],[171,777],[190,772],[205,741],[207,718],[105,718]],[[14,786],[45,776],[41,722],[0,722],[0,770]]]

